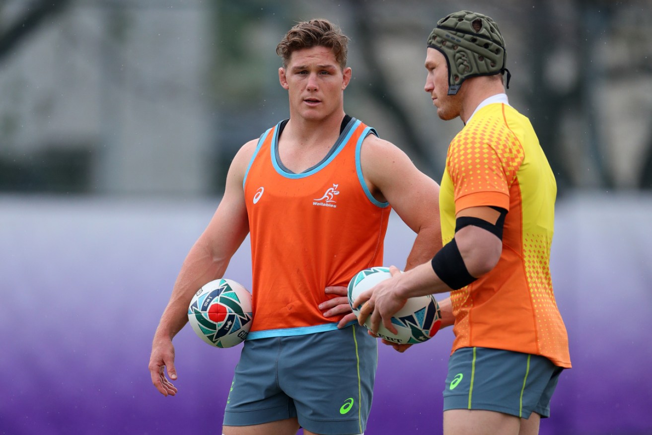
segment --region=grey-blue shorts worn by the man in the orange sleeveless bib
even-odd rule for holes
[[[224,425],[297,417],[301,427],[318,434],[361,434],[377,364],[376,338],[355,323],[321,333],[246,340]]]

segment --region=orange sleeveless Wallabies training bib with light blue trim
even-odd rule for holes
[[[369,192],[361,146],[375,131],[351,118],[331,153],[303,173],[278,158],[281,123],[265,132],[244,177],[253,268],[254,320],[248,339],[336,329],[318,305],[327,286],[382,265],[389,203]]]

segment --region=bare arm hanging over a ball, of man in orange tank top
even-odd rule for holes
[[[156,328],[149,370],[152,382],[163,395],[177,392],[165,378],[163,370],[167,367],[171,379],[177,378],[172,338],[188,322],[188,305],[192,295],[203,284],[222,277],[231,256],[249,232],[243,177],[255,147],[256,141],[248,142],[233,158],[226,177],[224,197],[181,265],[170,301]]]

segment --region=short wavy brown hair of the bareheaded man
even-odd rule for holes
[[[297,23],[289,29],[285,37],[276,46],[276,54],[283,58],[283,67],[287,68],[289,58],[296,50],[311,47],[327,47],[333,50],[340,67],[346,68],[346,53],[349,37],[342,33],[329,20],[316,20]]]

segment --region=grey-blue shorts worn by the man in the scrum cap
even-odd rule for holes
[[[550,398],[563,368],[546,357],[490,348],[461,348],[449,360],[446,410],[488,410],[524,419],[550,417]]]

